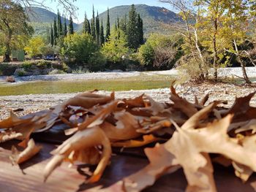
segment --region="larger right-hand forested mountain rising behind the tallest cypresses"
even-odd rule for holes
[[[116,23],[117,18],[122,18],[124,15],[129,15],[130,5],[122,5],[109,9],[110,12],[110,26]],[[136,4],[136,11],[143,19],[143,28],[145,34],[157,32],[161,34],[170,34],[173,31],[173,24],[180,23],[181,18],[175,13],[165,7],[152,7],[146,4]],[[107,11],[99,14],[99,19],[103,20],[103,25],[106,25]],[[83,23],[79,25],[79,29],[83,28]]]

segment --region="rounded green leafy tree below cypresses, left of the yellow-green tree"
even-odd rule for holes
[[[61,55],[75,60],[79,65],[87,64],[98,50],[97,44],[90,34],[71,34],[64,38]]]

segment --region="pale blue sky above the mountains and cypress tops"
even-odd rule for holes
[[[58,1],[58,0],[56,0]],[[52,11],[57,12],[58,9],[62,9],[61,6],[58,6],[57,2],[53,2],[51,0],[46,1],[45,3]],[[129,5],[129,4],[147,4],[150,6],[157,6],[157,7],[165,7],[167,9],[171,9],[169,4],[164,4],[159,2],[158,0],[77,0],[75,1],[75,6],[78,7],[78,11],[76,12],[77,19],[75,19],[76,23],[82,23],[84,18],[84,13],[88,15],[88,18],[91,18],[92,15],[92,6],[94,5],[94,10],[99,14],[101,12],[105,12],[108,7],[116,7],[118,5]]]

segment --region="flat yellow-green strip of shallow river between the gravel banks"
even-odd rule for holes
[[[0,96],[39,94],[39,93],[76,93],[94,89],[103,91],[130,91],[154,88],[169,88],[174,77],[170,75],[140,75],[116,80],[73,80],[40,81],[23,84],[0,85]]]

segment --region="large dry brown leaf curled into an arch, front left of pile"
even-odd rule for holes
[[[72,137],[67,139],[62,145],[60,145],[56,150],[54,150],[53,158],[48,162],[47,166],[45,166],[45,180],[47,180],[51,172],[53,172],[53,170],[56,169],[56,167],[59,166],[65,159],[71,162],[77,161],[75,155],[72,155],[72,153],[91,149],[91,147],[97,147],[98,145],[102,145],[103,147],[101,159],[97,169],[95,169],[94,174],[89,179],[89,183],[97,182],[102,176],[105,167],[108,165],[112,153],[110,141],[108,137],[106,137],[104,131],[102,131],[102,129],[99,127],[87,128],[83,131],[78,131]]]

